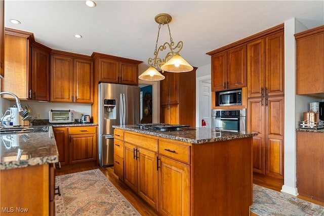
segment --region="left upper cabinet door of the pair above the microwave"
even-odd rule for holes
[[[212,91],[222,91],[226,89],[226,52],[212,56]]]

